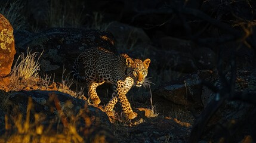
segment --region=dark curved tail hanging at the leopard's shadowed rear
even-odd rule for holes
[[[79,55],[78,58],[76,58],[76,60],[74,62],[74,66],[72,67],[72,71],[71,71],[71,74],[73,74],[74,79],[76,79],[78,82],[85,81],[85,77],[80,76],[80,74],[79,74],[79,66],[80,66],[81,62],[82,62],[82,56]]]

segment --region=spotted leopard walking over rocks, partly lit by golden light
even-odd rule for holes
[[[79,74],[80,64],[84,67],[84,76]],[[97,86],[105,82],[112,84],[112,99],[104,107],[105,113],[109,117],[115,116],[113,108],[119,101],[125,116],[128,119],[134,119],[137,117],[137,113],[132,111],[126,94],[132,86],[141,87],[141,85],[150,84],[146,78],[149,64],[149,58],[142,61],[131,58],[127,54],[114,54],[105,48],[93,47],[78,55],[71,73],[78,82],[86,82],[88,99],[94,105],[101,102],[96,92]]]

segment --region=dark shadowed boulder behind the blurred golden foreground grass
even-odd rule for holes
[[[42,112],[47,115],[56,116],[56,110],[51,111],[51,107],[55,107],[54,98],[56,97],[60,102],[61,107],[63,107],[64,114],[67,117],[76,115],[79,113],[80,109],[86,107],[89,111],[87,115],[91,118],[100,117],[100,120],[94,120],[95,124],[104,125],[107,128],[110,127],[109,119],[103,111],[98,108],[95,108],[91,105],[88,105],[84,100],[72,97],[69,94],[64,94],[63,92],[58,91],[20,91],[14,92],[10,95],[10,110],[13,111],[14,106],[18,105],[17,109],[22,114],[26,114],[27,111],[27,101],[31,97],[34,104],[34,110],[36,113]],[[92,117],[93,116],[93,117]],[[99,123],[96,123],[99,122]],[[92,123],[92,124],[94,124]]]

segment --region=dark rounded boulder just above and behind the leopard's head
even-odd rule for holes
[[[116,46],[120,48],[119,52],[126,52],[126,49],[132,49],[138,45],[143,47],[143,45],[150,43],[149,36],[143,29],[118,21],[110,23],[107,26],[107,31],[111,32],[116,39]]]

